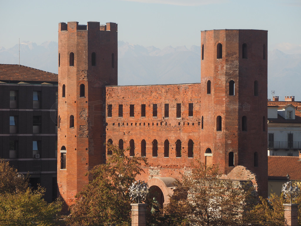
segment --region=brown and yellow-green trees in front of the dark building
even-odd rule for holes
[[[62,202],[48,204],[44,192],[41,187],[29,188],[27,176],[0,160],[0,225],[55,225]]]

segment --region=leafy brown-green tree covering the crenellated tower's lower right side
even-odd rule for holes
[[[93,180],[76,195],[70,207],[71,221],[80,225],[130,224],[128,188],[141,173],[146,158],[129,157],[118,146],[107,143],[105,164],[97,165],[86,176]],[[128,149],[126,149],[128,150]]]

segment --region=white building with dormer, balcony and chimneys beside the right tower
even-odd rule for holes
[[[286,96],[268,100],[268,155],[299,156],[301,151],[301,101]]]

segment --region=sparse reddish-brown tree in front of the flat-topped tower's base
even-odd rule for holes
[[[178,225],[233,225],[243,218],[243,210],[257,200],[248,183],[219,179],[219,169],[200,161],[191,165],[191,173],[182,175],[174,196],[166,208]]]

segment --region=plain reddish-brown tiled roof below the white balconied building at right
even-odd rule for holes
[[[291,180],[301,180],[301,161],[299,161],[299,157],[268,156],[269,180],[287,180],[287,174],[290,175]]]

